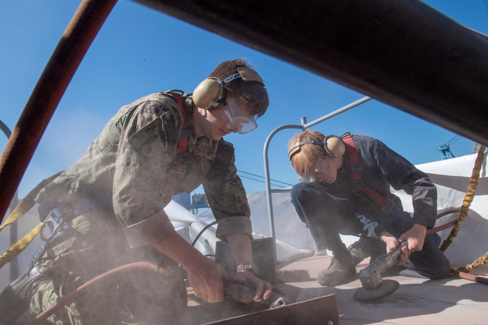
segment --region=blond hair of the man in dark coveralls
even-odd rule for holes
[[[302,141],[324,141],[325,135],[318,131],[306,129],[303,133],[295,134],[288,143],[288,152],[296,146],[297,142]],[[291,157],[291,167],[299,176],[314,172],[317,159],[325,155],[323,146],[316,144],[305,144],[300,146],[300,151]]]

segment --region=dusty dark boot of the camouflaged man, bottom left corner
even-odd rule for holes
[[[0,323],[15,322],[29,309],[30,301],[37,288],[42,283],[50,281],[39,273],[39,263],[30,272],[27,272],[28,268],[25,268],[20,276],[0,294]]]

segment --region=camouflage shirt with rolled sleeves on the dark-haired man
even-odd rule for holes
[[[163,213],[172,195],[189,193],[203,184],[219,220],[217,237],[251,235],[249,205],[237,176],[232,144],[197,138],[191,94],[182,98],[184,130],[182,108],[172,95],[152,94],[122,107],[81,158],[46,186],[36,202],[72,203],[111,191],[115,216],[107,217],[116,217],[129,245],[139,247],[173,230]]]

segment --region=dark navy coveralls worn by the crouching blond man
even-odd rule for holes
[[[389,186],[397,191],[404,190],[412,196],[413,224],[427,226],[427,229],[434,227],[437,190],[427,174],[375,138],[353,134],[352,139],[362,165],[363,184],[387,199],[391,198],[400,211],[403,211],[402,203],[398,196],[390,192]],[[331,250],[339,262],[342,255],[349,254],[339,234],[372,239],[366,253],[374,261],[386,253],[386,244],[380,239],[383,231],[398,238],[412,227],[384,212],[366,193],[353,193],[354,172],[346,151],[343,168],[338,171],[333,184],[299,183],[291,190],[295,209],[310,229],[317,249]],[[423,249],[411,253],[407,268],[427,278],[439,279],[448,276],[450,267],[438,246],[426,236]]]

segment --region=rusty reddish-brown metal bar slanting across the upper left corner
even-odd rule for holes
[[[0,158],[0,218],[81,59],[117,0],[83,0],[49,59]]]

